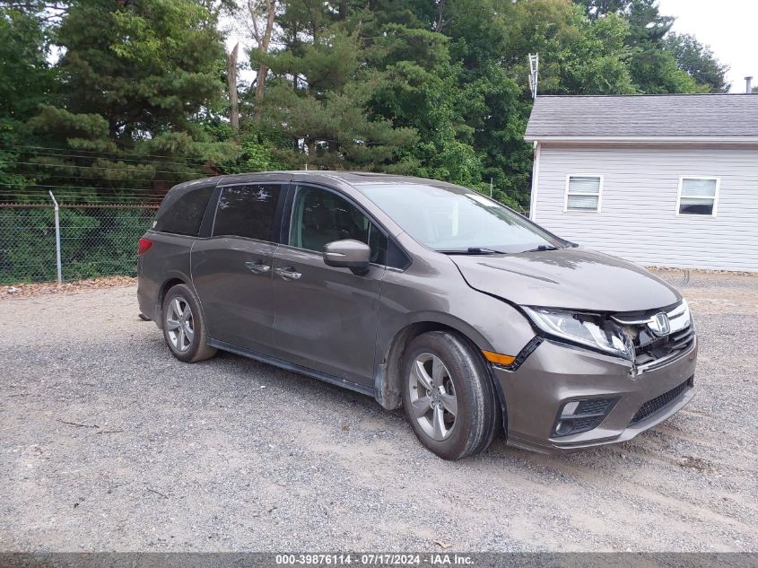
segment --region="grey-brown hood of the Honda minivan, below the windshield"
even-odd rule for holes
[[[475,290],[524,306],[641,311],[682,298],[644,268],[588,249],[449,258]]]

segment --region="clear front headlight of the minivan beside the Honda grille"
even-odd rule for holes
[[[618,324],[597,315],[551,308],[527,308],[535,325],[548,335],[568,339],[571,343],[588,345],[594,349],[634,361],[632,338]]]

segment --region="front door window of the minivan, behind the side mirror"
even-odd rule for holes
[[[327,242],[354,239],[371,248],[370,261],[387,262],[387,235],[355,205],[331,191],[298,187],[292,205],[290,245],[321,252]]]

